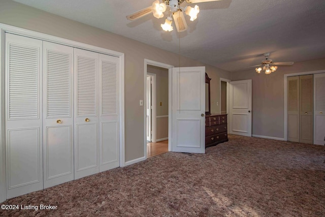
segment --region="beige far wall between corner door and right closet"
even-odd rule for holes
[[[269,75],[254,69],[231,73],[231,80],[252,79],[252,134],[284,138],[284,74],[325,70],[325,58],[279,66]]]

